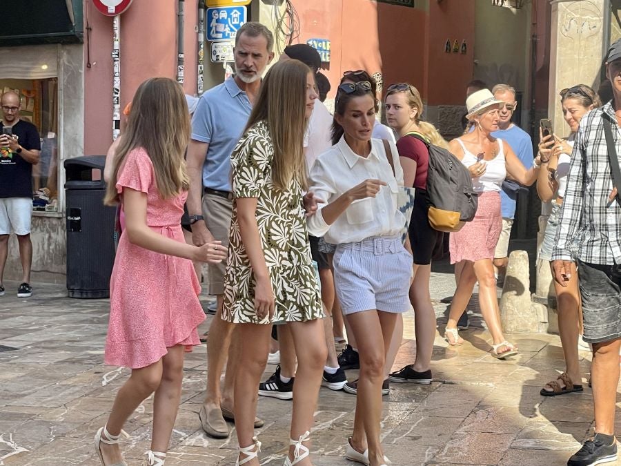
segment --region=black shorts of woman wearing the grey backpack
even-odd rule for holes
[[[431,228],[427,217],[428,211],[427,191],[416,188],[408,235],[414,263],[417,265],[431,264],[431,258],[442,257],[443,253],[444,233]]]

